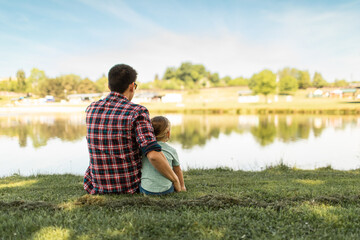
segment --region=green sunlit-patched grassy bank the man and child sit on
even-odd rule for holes
[[[185,172],[187,193],[89,196],[74,175],[0,178],[0,239],[358,239],[360,171]]]

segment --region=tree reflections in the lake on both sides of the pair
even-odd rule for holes
[[[172,123],[171,142],[183,149],[204,146],[220,134],[251,133],[261,146],[320,137],[324,129],[360,127],[359,116],[307,115],[168,115]],[[17,138],[20,147],[46,146],[50,139],[73,142],[85,138],[84,114],[16,115],[0,117],[0,136]]]

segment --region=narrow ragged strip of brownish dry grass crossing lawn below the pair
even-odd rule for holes
[[[92,196],[84,195],[72,202],[71,205],[78,207],[108,207],[108,208],[123,208],[123,207],[153,207],[159,209],[175,209],[179,207],[205,207],[208,209],[223,209],[229,207],[248,207],[248,208],[272,208],[274,210],[281,210],[292,207],[304,202],[311,204],[328,204],[328,205],[360,205],[360,195],[355,196],[318,196],[315,198],[288,198],[275,201],[264,201],[252,198],[234,198],[224,195],[205,195],[195,199],[170,199],[163,197],[126,197],[126,198],[107,198],[106,196]],[[69,205],[57,205],[47,202],[27,202],[27,201],[0,201],[0,210],[6,209],[50,209],[61,210],[66,209]]]

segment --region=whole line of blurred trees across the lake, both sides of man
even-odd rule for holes
[[[315,72],[311,77],[309,71],[285,67],[274,73],[262,70],[251,78],[224,76],[212,73],[202,64],[183,62],[179,67],[168,67],[161,78],[158,75],[151,82],[140,83],[141,89],[201,89],[209,87],[248,86],[255,94],[271,93],[293,94],[298,89],[309,87],[346,87],[345,79],[327,82],[321,73]],[[0,82],[0,91],[11,91],[34,94],[40,97],[52,95],[56,98],[66,98],[75,93],[96,93],[108,91],[107,77],[103,75],[96,81],[81,78],[75,74],[61,75],[55,78],[46,76],[43,70],[33,68],[28,77],[23,70],[16,73],[16,79],[9,78]]]

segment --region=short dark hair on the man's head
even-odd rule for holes
[[[116,64],[108,73],[109,89],[112,92],[124,93],[129,84],[135,82],[137,72],[126,64]]]

